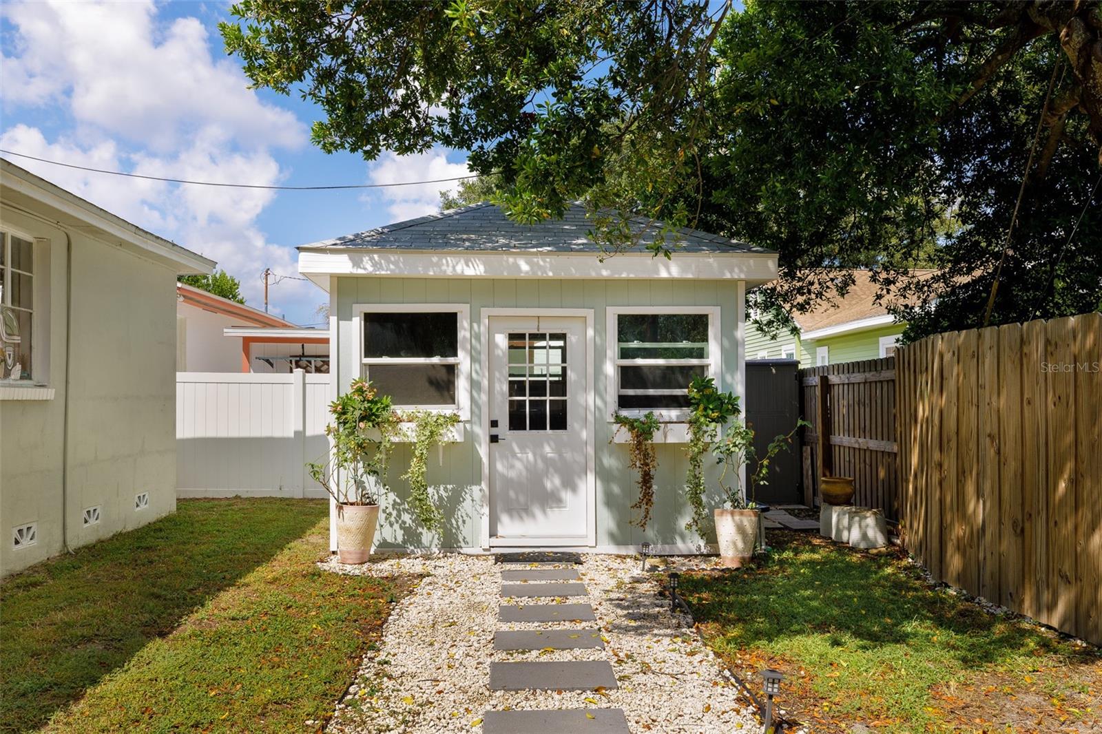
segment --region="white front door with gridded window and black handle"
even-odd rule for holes
[[[491,316],[489,342],[490,544],[585,544],[585,320]]]

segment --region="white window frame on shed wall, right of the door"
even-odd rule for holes
[[[633,315],[644,314],[653,316],[701,314],[707,316],[707,358],[705,359],[620,359],[617,354],[618,346],[618,322],[620,314]],[[609,406],[608,420],[612,413],[619,410],[619,368],[620,367],[646,367],[646,366],[679,366],[679,365],[702,365],[707,367],[707,375],[715,379],[716,386],[721,389],[723,379],[723,359],[721,357],[721,321],[720,306],[608,306],[605,309],[605,344],[607,346],[607,359],[605,361],[605,382],[607,390],[607,406]],[[667,422],[684,421],[689,418],[689,410],[685,408],[663,408],[652,409],[659,420]],[[625,415],[641,417],[648,411],[644,408],[627,408],[619,411]]]

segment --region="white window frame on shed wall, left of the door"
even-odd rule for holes
[[[365,357],[364,314],[365,313],[454,313],[456,319],[455,357]],[[433,412],[460,414],[460,420],[471,420],[471,305],[466,303],[355,303],[353,304],[353,328],[356,338],[357,377],[364,367],[370,374],[371,365],[455,365],[455,404],[453,406],[395,406],[401,410],[430,410]],[[344,388],[342,388],[344,389]]]

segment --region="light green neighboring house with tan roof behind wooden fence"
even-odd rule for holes
[[[917,271],[921,276],[932,271]],[[895,353],[906,323],[897,322],[883,303],[867,270],[854,271],[855,282],[844,299],[823,301],[814,310],[796,314],[799,333],[781,332],[768,338],[756,326],[746,326],[747,359],[798,359],[801,367],[875,359]]]

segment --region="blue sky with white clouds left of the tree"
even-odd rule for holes
[[[290,111],[247,88],[235,62],[215,62],[194,18],[159,21],[151,2],[8,3],[15,33],[0,68],[3,117],[71,118],[62,133],[17,123],[0,148],[111,171],[199,181],[278,184],[271,150],[306,139]],[[24,112],[20,115],[18,112]],[[53,139],[51,139],[51,137]],[[110,176],[12,156],[105,209],[218,261],[262,305],[260,273],[296,276],[293,249],[273,245],[257,217],[276,194]],[[304,281],[272,291],[274,313],[312,313],[324,294]]]

